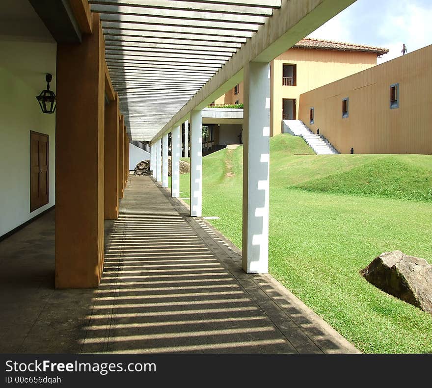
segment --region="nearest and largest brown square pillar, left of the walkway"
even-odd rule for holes
[[[105,47],[100,16],[57,45],[55,287],[99,285],[104,261]]]

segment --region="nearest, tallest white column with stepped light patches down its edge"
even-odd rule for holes
[[[270,66],[244,66],[243,259],[247,273],[269,270]]]

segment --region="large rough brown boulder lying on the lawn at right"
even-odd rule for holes
[[[401,251],[384,252],[360,274],[381,290],[432,314],[432,265]]]

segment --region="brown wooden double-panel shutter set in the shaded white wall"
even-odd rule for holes
[[[48,135],[30,131],[30,212],[48,204]]]

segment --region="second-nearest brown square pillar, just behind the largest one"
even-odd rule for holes
[[[118,217],[118,94],[105,105],[105,219]]]

